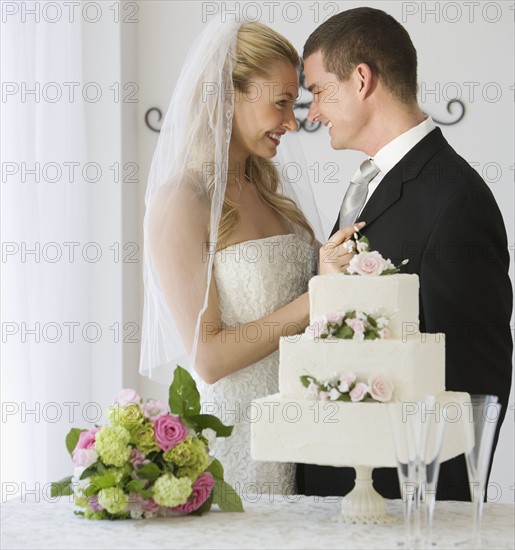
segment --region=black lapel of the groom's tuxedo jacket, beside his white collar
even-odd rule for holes
[[[420,140],[381,180],[358,221],[363,220],[369,226],[397,202],[401,197],[404,183],[418,177],[427,162],[446,145],[447,141],[440,128],[435,128]]]

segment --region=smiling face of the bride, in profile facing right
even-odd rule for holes
[[[298,128],[293,104],[299,93],[297,71],[275,63],[266,78],[255,78],[234,98],[231,148],[238,154],[272,158],[281,137]]]

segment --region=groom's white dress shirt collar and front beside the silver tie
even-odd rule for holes
[[[368,184],[367,198],[363,208],[365,208],[365,205],[372,196],[372,193],[377,189],[386,174],[406,155],[406,153],[408,153],[408,151],[413,149],[419,141],[425,138],[427,134],[432,132],[434,129],[435,124],[433,119],[428,116],[423,122],[413,128],[410,128],[407,132],[397,136],[395,139],[392,139],[390,143],[387,143],[383,148],[379,149],[372,160],[377,165],[380,172]],[[363,208],[361,209],[361,212],[363,212]],[[359,219],[361,212],[356,218],[356,221],[361,221]]]

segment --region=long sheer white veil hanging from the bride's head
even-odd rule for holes
[[[224,167],[232,131],[232,72],[240,25],[214,20],[192,46],[150,168],[140,373],[163,384],[170,383],[176,365],[195,375],[192,365],[202,337],[201,318],[208,304],[227,183]],[[276,166],[279,161],[282,176],[278,191],[296,202],[322,240],[300,146],[288,146],[285,138],[280,146],[283,158],[273,159]],[[300,228],[298,234],[307,238]]]

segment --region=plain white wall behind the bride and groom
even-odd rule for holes
[[[137,29],[140,197],[157,142],[157,134],[144,126],[144,113],[153,106],[166,110],[190,45],[210,20],[209,13],[213,14],[211,17],[220,17],[221,4],[236,6],[236,13],[228,18],[249,20],[260,12],[261,21],[283,33],[300,52],[308,35],[326,17],[351,7],[378,7],[403,23],[418,51],[419,99],[423,110],[436,119],[451,120],[452,115],[446,111],[447,101],[461,97],[466,105],[465,118],[456,126],[443,126],[442,130],[458,153],[489,183],[504,215],[513,257],[514,34],[513,11],[507,2],[140,2]],[[328,233],[347,182],[363,155],[333,151],[325,130],[301,133],[301,139],[308,165],[314,167],[319,163],[320,181],[314,192]],[[327,181],[334,177],[329,167],[324,169],[328,162],[338,163],[337,183]],[[139,227],[142,214],[140,201]],[[513,280],[513,263],[511,276]],[[166,397],[166,388],[144,379],[140,389],[144,395]],[[513,501],[513,489],[510,490],[514,484],[513,448],[513,415],[508,412],[491,476],[491,482],[499,485],[504,502]]]

